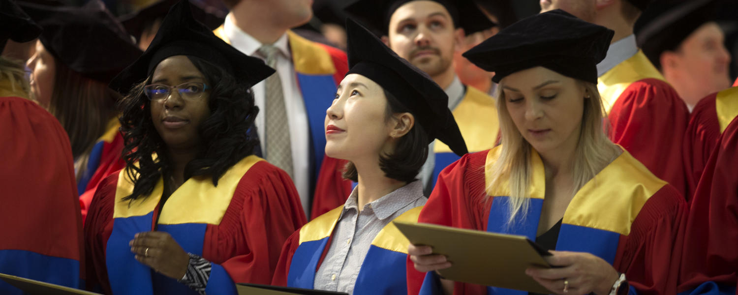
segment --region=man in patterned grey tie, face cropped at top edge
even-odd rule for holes
[[[325,157],[325,110],[348,70],[345,52],[290,30],[310,20],[311,0],[224,2],[230,13],[215,35],[277,70],[252,88],[262,111],[255,122],[257,154],[292,176],[309,212]],[[341,195],[351,192],[350,183],[340,187]]]

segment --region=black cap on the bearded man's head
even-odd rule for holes
[[[382,35],[386,35],[390,30],[390,18],[395,11],[412,1],[417,0],[359,0],[346,7],[345,10],[364,21],[371,30],[377,30],[382,32]],[[454,26],[463,28],[466,35],[487,30],[496,25],[472,0],[430,1],[438,2],[446,7],[453,18]]]

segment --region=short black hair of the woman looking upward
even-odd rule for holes
[[[392,119],[393,114],[412,113],[389,91],[384,90],[384,97],[387,97],[385,122]],[[400,137],[394,152],[379,156],[379,167],[382,168],[384,176],[388,178],[404,182],[414,181],[415,176],[418,176],[420,169],[428,158],[428,152],[428,135],[416,119],[413,128],[410,128],[410,131]],[[343,178],[355,182],[359,181],[359,174],[356,172],[354,163],[348,162],[346,164]]]

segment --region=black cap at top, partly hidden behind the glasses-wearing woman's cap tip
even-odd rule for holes
[[[151,27],[156,21],[161,21],[169,12],[172,5],[176,4],[179,0],[160,0],[154,2],[154,4],[143,7],[136,13],[121,16],[120,22],[135,38],[140,38],[142,32],[148,27]],[[215,30],[226,18],[225,13],[215,9],[214,7],[206,7],[202,4],[190,2],[190,8],[192,9],[193,17],[205,24],[210,30]]]

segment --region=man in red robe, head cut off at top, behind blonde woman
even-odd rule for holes
[[[686,193],[682,142],[689,109],[638,49],[633,26],[651,0],[542,0],[541,12],[561,9],[615,31],[597,64],[598,88],[610,140],[625,147],[659,178]]]

